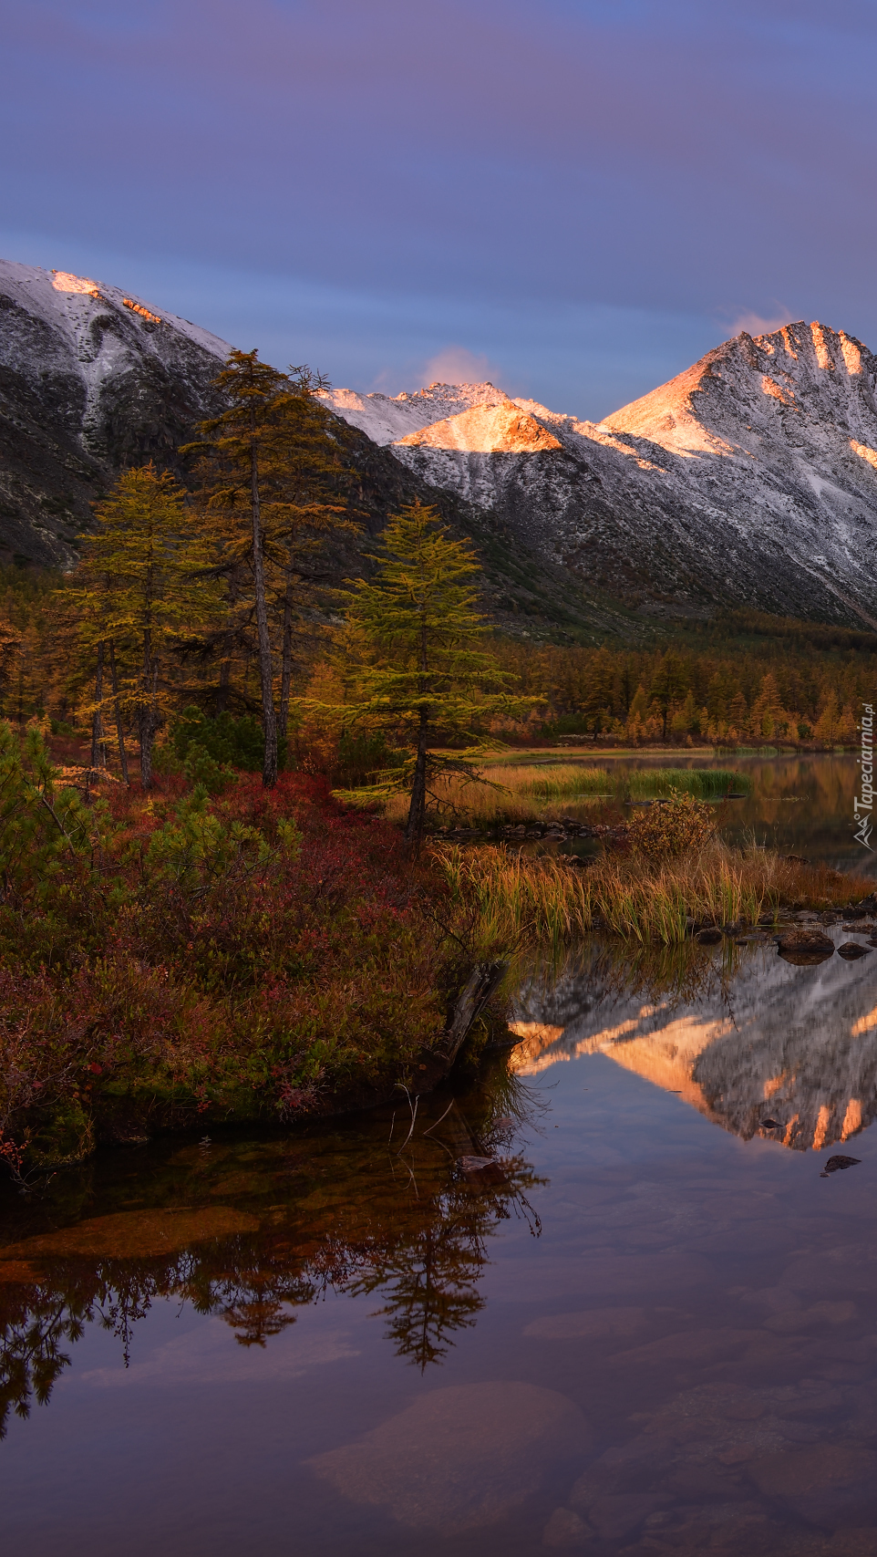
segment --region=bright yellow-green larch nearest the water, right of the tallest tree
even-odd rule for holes
[[[375,578],[344,592],[339,649],[350,701],[339,715],[406,750],[378,788],[411,793],[414,853],[431,783],[442,774],[484,782],[477,729],[494,713],[532,707],[512,696],[512,674],[480,646],[488,624],[477,610],[477,571],[474,553],[448,536],[432,508],[415,503],[387,522]]]

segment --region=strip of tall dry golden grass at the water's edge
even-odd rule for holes
[[[628,940],[676,945],[701,923],[756,923],[784,906],[841,908],[874,883],[827,866],[802,866],[765,849],[745,853],[712,841],[700,853],[648,864],[600,859],[586,870],[563,856],[501,847],[435,849],[452,897],[468,903],[484,948],[558,948],[594,926]]]

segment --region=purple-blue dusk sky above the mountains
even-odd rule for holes
[[[0,254],[278,367],[599,419],[877,350],[874,0],[0,0]]]

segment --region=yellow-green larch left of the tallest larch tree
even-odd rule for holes
[[[95,671],[92,760],[103,744],[101,715],[109,707],[126,775],[124,708],[137,726],[140,782],[149,789],[155,733],[173,704],[168,655],[216,613],[218,592],[208,578],[213,551],[182,487],[151,464],[126,470],[95,508],[95,518],[98,528],[82,542],[75,582],[79,643]]]

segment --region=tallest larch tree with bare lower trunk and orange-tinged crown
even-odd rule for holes
[[[305,581],[305,559],[330,529],[351,528],[333,486],[344,484],[339,445],[331,436],[331,414],[317,395],[325,380],[306,367],[278,372],[258,361],[258,352],[229,353],[215,380],[225,409],[197,428],[197,442],[183,455],[197,455],[196,476],[205,534],[218,548],[218,575],[225,576],[232,613],[255,617],[261,718],[264,732],[263,783],[277,783],[278,726],[286,733],[295,606]],[[305,570],[305,571],[303,571]],[[252,578],[252,593],[246,575]],[[280,631],[280,721],[274,679],[272,621]],[[225,660],[227,668],[229,660]]]

